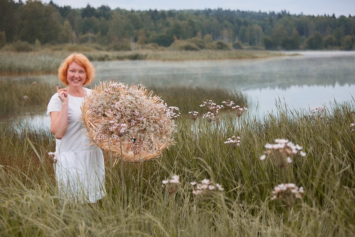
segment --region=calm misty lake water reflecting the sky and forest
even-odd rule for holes
[[[355,52],[297,53],[301,55],[248,60],[94,62],[97,70],[94,83],[115,79],[145,86],[228,88],[247,96],[250,102],[248,112],[260,117],[275,113],[275,101],[278,100],[290,109],[305,111],[329,106],[334,100],[339,103],[353,100]],[[28,80],[59,84],[56,75]],[[50,124],[45,108],[37,108],[21,119],[34,126],[49,127]]]

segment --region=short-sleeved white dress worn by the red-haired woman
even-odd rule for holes
[[[90,95],[91,90],[85,89]],[[68,98],[67,130],[61,140],[55,140],[55,151],[58,153],[55,177],[59,196],[75,202],[95,203],[105,196],[103,153],[99,147],[88,145],[91,141],[85,135],[86,128],[80,119],[84,97],[68,95]],[[61,108],[62,102],[55,93],[48,103],[47,115]]]

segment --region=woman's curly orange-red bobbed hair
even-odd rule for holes
[[[69,85],[67,81],[67,70],[69,67],[69,64],[72,62],[76,62],[79,64],[81,67],[83,67],[86,71],[86,79],[83,84],[84,85],[90,85],[92,81],[94,80],[95,77],[95,69],[90,60],[84,56],[83,54],[80,53],[72,53],[71,55],[67,56],[66,59],[62,61],[58,68],[58,78],[59,80],[63,83],[63,85]]]

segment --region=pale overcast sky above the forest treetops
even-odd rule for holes
[[[49,2],[44,0],[42,2]],[[117,7],[126,10],[181,10],[181,9],[222,9],[280,12],[286,10],[291,14],[324,15],[333,13],[340,15],[355,15],[355,0],[53,0],[59,6],[82,8],[90,4],[93,7],[108,5],[111,9]]]

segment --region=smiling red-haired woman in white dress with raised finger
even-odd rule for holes
[[[59,66],[58,77],[65,88],[57,88],[49,101],[50,131],[56,137],[58,161],[55,176],[59,196],[75,202],[95,203],[105,196],[104,158],[85,135],[81,106],[91,90],[84,88],[94,80],[95,70],[86,56],[73,53]]]

